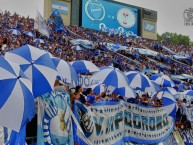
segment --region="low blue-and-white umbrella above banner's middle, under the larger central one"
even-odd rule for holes
[[[113,91],[114,94],[118,94],[126,99],[129,98],[135,98],[136,93],[133,88],[130,86],[122,87],[122,88],[117,88]]]

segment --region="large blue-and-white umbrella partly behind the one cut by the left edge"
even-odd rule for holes
[[[47,52],[31,45],[24,45],[7,52],[5,58],[18,63],[24,74],[32,81],[34,97],[53,90],[57,71]]]

